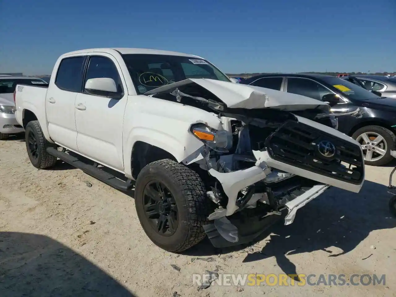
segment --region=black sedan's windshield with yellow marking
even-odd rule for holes
[[[352,82],[348,82],[347,80],[343,80],[337,77],[325,77],[322,78],[327,84],[330,84],[334,88],[337,88],[341,93],[345,95],[345,97],[350,98],[352,100],[373,100],[380,99],[380,96],[377,96],[370,91],[367,91],[365,88],[358,86]]]

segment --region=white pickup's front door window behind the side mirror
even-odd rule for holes
[[[93,56],[89,58],[88,69],[85,74],[84,88],[90,78],[112,78],[118,86],[118,91],[122,90],[122,83],[116,65],[107,57]]]

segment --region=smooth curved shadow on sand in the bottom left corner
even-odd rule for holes
[[[135,297],[69,247],[19,232],[0,232],[0,292],[2,297]]]

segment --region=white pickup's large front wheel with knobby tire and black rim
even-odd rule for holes
[[[176,227],[173,228],[174,233],[171,235],[166,236],[158,230],[163,231],[162,228],[158,228],[160,217],[155,223],[156,219],[147,215],[148,208],[160,209],[160,204],[163,201],[171,200],[170,198],[159,199],[157,204],[153,202],[147,206],[146,201],[151,198],[145,191],[154,183],[163,185],[163,192],[170,193],[163,196],[172,196],[173,205],[171,208],[177,209],[177,222],[175,223],[175,219],[173,219],[172,223]],[[139,172],[134,196],[139,221],[148,238],[156,246],[169,252],[178,253],[195,246],[205,238],[203,226],[208,223],[210,200],[206,196],[204,182],[192,169],[169,159],[152,162]],[[171,210],[167,217],[167,223],[164,223],[168,226],[169,232],[171,232],[169,219],[173,215],[176,217]],[[156,214],[156,216],[160,215]]]

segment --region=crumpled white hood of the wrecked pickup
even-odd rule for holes
[[[188,78],[180,82],[152,89],[151,91],[144,93],[144,95],[171,93],[176,88],[180,88],[188,84],[198,84],[202,86],[225,103],[228,108],[270,108],[287,111],[315,108],[329,110],[329,105],[327,105],[327,103],[302,95],[207,78]]]

